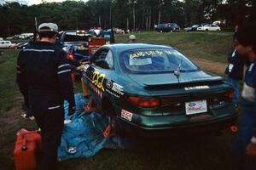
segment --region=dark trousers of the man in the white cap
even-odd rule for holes
[[[43,156],[40,160],[40,170],[55,170],[57,167],[58,146],[61,144],[61,133],[64,126],[63,107],[33,111],[38,127],[41,128]]]

